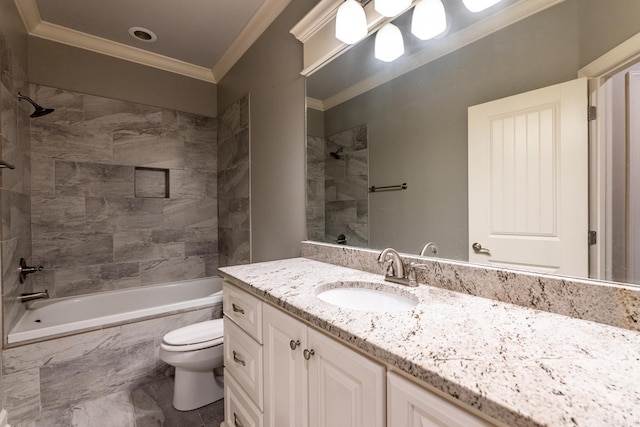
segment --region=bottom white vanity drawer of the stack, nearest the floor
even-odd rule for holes
[[[225,369],[224,418],[228,427],[262,427],[262,413]]]

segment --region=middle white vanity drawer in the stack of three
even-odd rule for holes
[[[262,346],[225,315],[224,366],[260,410],[263,410],[262,353]]]

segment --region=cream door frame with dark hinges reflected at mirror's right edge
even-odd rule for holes
[[[578,71],[589,79],[589,105],[597,116],[589,122],[589,229],[599,238],[589,247],[589,277],[611,280],[611,176],[607,173],[611,152],[612,90],[609,78],[640,62],[640,33],[619,44]]]

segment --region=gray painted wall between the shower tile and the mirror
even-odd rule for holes
[[[315,5],[294,0],[218,85],[218,110],[250,97],[252,262],[299,256],[305,238],[302,44],[289,30]]]

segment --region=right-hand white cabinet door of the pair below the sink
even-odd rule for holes
[[[383,427],[384,367],[313,329],[307,335],[309,426]]]

